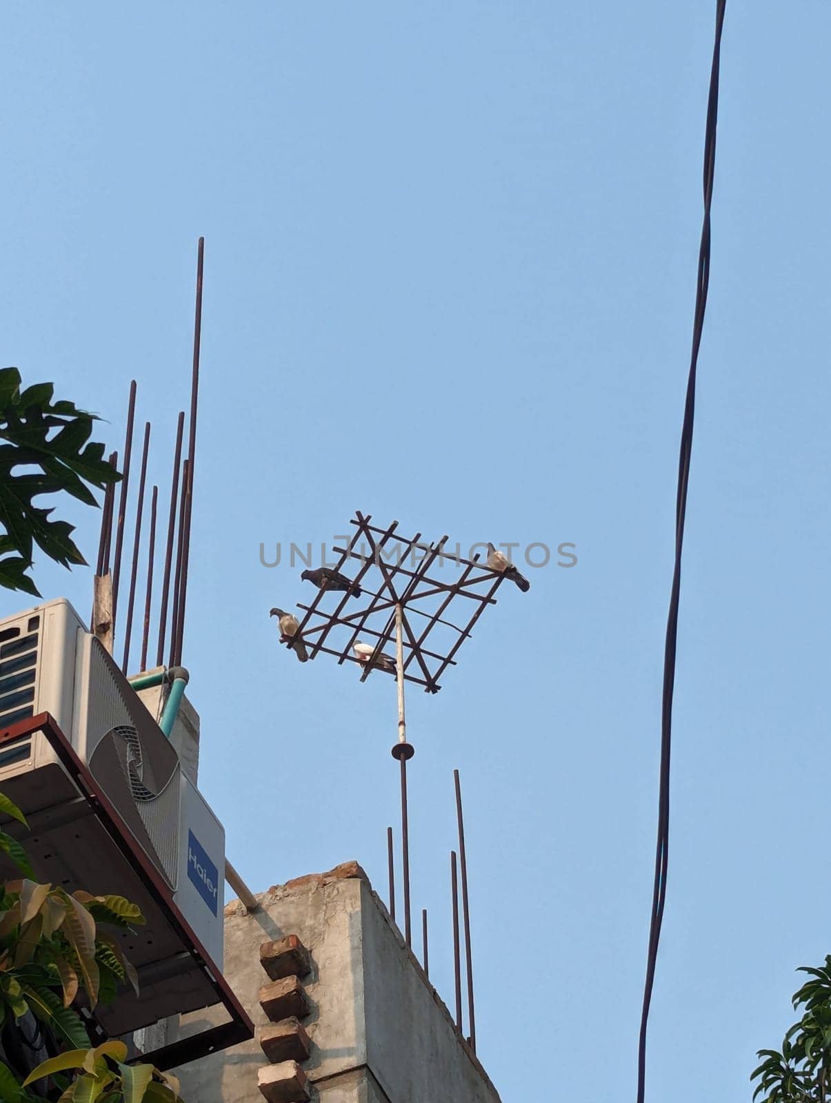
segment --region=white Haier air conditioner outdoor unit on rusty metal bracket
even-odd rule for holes
[[[167,887],[210,964],[221,971],[223,827],[185,777],[153,717],[64,599],[0,621],[0,730],[41,713],[55,719]],[[129,878],[108,859],[109,849],[93,829],[88,802],[43,733],[0,746],[0,792],[30,821],[31,833],[22,842],[39,879],[63,884],[70,891],[130,897]],[[161,920],[156,928],[148,917],[147,927],[125,935],[125,952],[138,968],[146,1005],[138,1015],[146,1021],[131,1020],[130,1028],[211,1003],[199,978],[187,975],[189,967],[193,972],[192,962],[183,960],[188,947],[183,950],[181,940],[171,941]]]

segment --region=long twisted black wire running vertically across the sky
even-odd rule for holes
[[[715,42],[713,64],[710,72],[710,96],[707,99],[707,124],[704,137],[704,219],[701,227],[699,249],[699,274],[695,288],[695,318],[693,321],[692,355],[686,381],[684,421],[681,429],[681,448],[678,463],[678,494],[675,497],[675,564],[672,572],[672,591],[667,617],[667,638],[663,653],[663,700],[661,708],[661,765],[658,797],[658,840],[656,845],[654,882],[652,887],[652,914],[649,924],[649,950],[647,952],[647,975],[643,985],[643,1007],[638,1040],[638,1103],[643,1103],[647,1065],[647,1027],[649,1007],[652,1000],[658,943],[661,938],[663,909],[667,901],[667,868],[670,843],[670,756],[672,750],[672,697],[675,687],[675,652],[678,645],[678,610],[681,595],[681,553],[684,544],[684,518],[686,516],[686,493],[690,485],[690,459],[692,456],[693,421],[695,416],[695,375],[699,364],[701,335],[704,329],[704,312],[707,304],[710,285],[710,211],[713,203],[713,178],[715,173],[715,136],[718,118],[718,68],[722,51],[722,29],[726,0],[716,0]]]

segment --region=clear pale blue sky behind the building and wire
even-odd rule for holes
[[[0,18],[1,358],[97,409],[113,447],[136,377],[162,503],[206,238],[184,662],[202,785],[254,887],[356,858],[383,890],[397,823],[392,683],[277,647],[268,609],[310,590],[260,542],[329,540],[359,508],[577,545],[408,698],[414,903],[450,1003],[459,767],[505,1103],[531,1082],[633,1097],[713,8]],[[831,950],[829,32],[820,0],[728,4],[656,1101],[749,1099],[795,968]],[[88,608],[88,571],[38,577]]]

